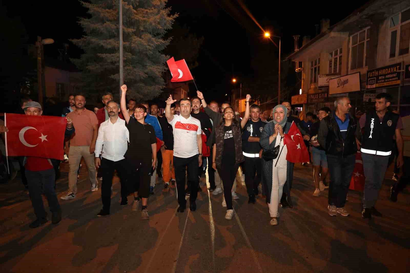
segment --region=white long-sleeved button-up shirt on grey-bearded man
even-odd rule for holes
[[[127,142],[130,142],[130,133],[125,127],[125,120],[118,117],[117,121],[112,124],[111,120],[108,119],[101,123],[100,129],[98,129],[96,157],[101,154],[103,158],[108,160],[122,160],[128,149]]]

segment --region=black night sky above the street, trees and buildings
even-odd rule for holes
[[[314,25],[319,24],[321,18],[330,18],[333,25],[367,1],[346,5],[329,5],[328,1],[266,2],[243,1],[262,28],[282,36],[284,58],[293,51],[292,35],[301,35],[301,44],[302,36],[314,37]],[[2,6],[2,12],[14,18],[14,22],[21,18],[28,43],[34,43],[37,35],[55,40],[55,44],[47,45],[46,56],[58,56],[63,43],[83,35],[77,18],[87,14],[79,1],[37,1],[30,5],[3,1]],[[255,73],[251,59],[257,54],[278,54],[275,45],[263,37],[262,30],[236,0],[169,0],[168,6],[172,7],[172,13],[179,14],[176,20],[179,24],[187,25],[190,32],[205,38],[199,52],[199,66],[191,71],[200,90],[225,93],[233,87],[232,77],[240,81],[241,77]],[[78,57],[81,51],[69,44],[70,57]]]

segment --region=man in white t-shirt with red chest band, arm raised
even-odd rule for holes
[[[174,135],[174,169],[177,184],[177,212],[184,212],[185,200],[185,167],[188,171],[188,185],[191,187],[189,209],[196,210],[196,196],[198,195],[198,167],[202,165],[202,132],[200,121],[191,117],[192,104],[187,98],[180,100],[181,115],[171,115],[171,104],[176,102],[170,95],[166,100],[165,117],[172,125]]]

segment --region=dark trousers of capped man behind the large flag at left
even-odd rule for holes
[[[34,208],[34,214],[37,218],[46,218],[47,212],[44,210],[43,197],[47,197],[48,206],[51,212],[58,212],[61,210],[58,203],[57,195],[54,190],[55,171],[54,168],[44,171],[29,171],[25,170],[25,176],[28,182],[28,192],[30,193],[31,203]]]

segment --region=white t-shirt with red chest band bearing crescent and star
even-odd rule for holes
[[[174,156],[189,158],[198,154],[196,135],[201,135],[201,123],[189,115],[186,119],[181,115],[174,115],[169,124],[172,125],[174,135]]]

